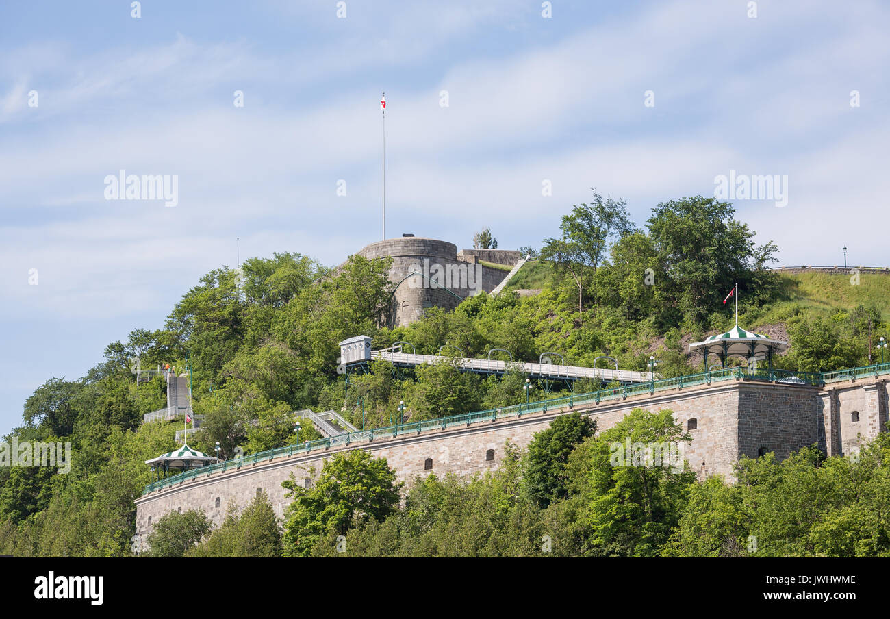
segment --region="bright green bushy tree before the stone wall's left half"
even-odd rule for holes
[[[312,488],[293,474],[282,484],[293,502],[287,508],[285,554],[307,556],[328,534],[345,535],[368,520],[384,520],[399,504],[401,483],[385,458],[357,449],[336,454],[321,468]]]

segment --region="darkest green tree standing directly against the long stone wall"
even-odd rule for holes
[[[575,446],[593,436],[596,423],[587,415],[571,412],[560,415],[549,428],[535,434],[525,462],[525,485],[539,508],[564,499],[569,494],[566,465]]]

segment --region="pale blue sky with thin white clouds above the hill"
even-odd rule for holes
[[[780,265],[890,265],[890,4],[133,4],[0,4],[0,434],[236,238],[327,265],[380,240],[382,91],[388,237],[540,247],[591,188],[644,224],[770,175],[729,201]],[[120,170],[175,206],[108,200]]]

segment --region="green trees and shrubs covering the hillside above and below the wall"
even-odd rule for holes
[[[218,442],[223,457],[231,458],[238,450],[294,444],[296,422],[302,425],[300,440],[319,436],[298,412],[307,408],[340,411],[357,427],[381,427],[525,400],[521,372],[485,379],[457,371],[453,362],[413,372],[376,362],[367,374],[352,375],[346,390],[337,343],[359,334],[374,338],[376,347],[408,341],[424,354],[446,345],[443,353],[478,357],[490,348],[506,348],[514,361],[538,361],[539,354],[556,352],[570,364],[587,366],[608,355],[622,369],[638,371],[656,355],[659,373],[675,376],[704,369],[700,357],[685,354],[685,344],[732,326],[732,309],[721,301],[738,282],[741,322],[756,330],[787,332],[792,346],[777,360],[781,367],[827,371],[864,364],[874,361],[878,337],[890,337],[886,289],[864,276],[862,286],[850,285],[844,276],[822,286],[812,278],[770,272],[765,267],[776,252],[772,242],[756,247],[754,233],[734,219],[732,207],[714,199],[665,202],[653,208],[645,224],[634,224],[623,201],[595,193],[594,200],[562,217],[560,231],[562,236],[545,240],[540,251],[522,248],[540,260],[524,266],[498,297],[469,297],[450,312],[431,308],[422,320],[394,329],[381,326],[392,301],[388,260],[350,257],[330,269],[310,257],[283,253],[251,258],[239,270],[221,267],[207,273],[174,306],[164,328],[133,330],[125,342],[107,346],[105,359],[84,377],[49,379],[24,403],[22,425],[4,441],[69,443],[71,469],[61,475],[53,468],[0,467],[0,552],[131,554],[133,501],[150,482],[143,462],[174,449],[174,431],[182,428],[182,418],[142,424],[144,413],[166,406],[166,382],[156,376],[137,384],[137,359],[143,371],[169,364],[189,377],[194,411],[202,416],[191,446],[213,453]],[[490,231],[479,244],[494,245]],[[522,286],[541,291],[530,297],[511,292]],[[574,386],[576,392],[597,387],[592,382]],[[537,400],[564,388],[532,381],[528,396]],[[244,519],[233,513],[218,534],[192,529],[196,533],[189,539],[202,539],[193,552],[312,554],[317,547],[328,548],[329,536],[336,539],[348,529],[355,552],[530,553],[539,548],[538,533],[545,526],[553,533],[541,535],[560,540],[554,546],[557,554],[643,555],[668,545],[686,552],[692,538],[676,537],[676,532],[698,526],[677,511],[687,503],[687,494],[694,505],[748,500],[735,494],[742,492],[735,486],[720,491],[714,482],[690,482],[686,487],[680,478],[670,478],[646,480],[647,485],[659,481],[659,495],[629,497],[645,499],[643,508],[630,509],[614,488],[629,493],[634,480],[596,473],[600,469],[592,462],[602,460],[603,453],[595,452],[591,428],[584,423],[561,421],[527,456],[517,453],[514,465],[507,462],[490,476],[470,482],[423,480],[409,489],[406,507],[390,513],[382,504],[378,511],[362,512],[367,518],[358,522],[361,510],[349,509],[348,500],[336,517],[328,517],[312,502],[313,489],[295,486],[297,507],[288,513],[290,537],[283,542],[267,534],[270,512],[257,507],[250,525],[259,531],[255,542],[231,542],[242,534]],[[385,485],[383,465],[353,464],[355,475],[370,475],[365,471],[370,467]],[[746,466],[756,472],[767,465]],[[784,470],[790,465],[768,466]],[[820,470],[824,466],[813,463]],[[582,473],[585,481],[579,485]],[[882,483],[881,475],[869,483]],[[702,494],[708,491],[713,494]],[[487,519],[474,516],[469,506]],[[629,509],[621,512],[622,525],[603,521],[599,509],[614,514],[618,506]],[[854,515],[837,518],[853,523]],[[720,522],[735,527],[732,543],[738,544],[742,533],[756,530],[757,521],[726,516]],[[498,528],[502,524],[506,528]],[[464,526],[472,528],[468,538],[440,536],[441,527]],[[299,542],[292,533],[297,530],[303,532]],[[668,544],[669,536],[676,539]],[[831,549],[850,548],[839,539],[833,543]],[[878,539],[875,548],[883,548],[881,543]],[[178,548],[174,544],[158,552],[176,554]],[[813,545],[810,550],[828,548]]]

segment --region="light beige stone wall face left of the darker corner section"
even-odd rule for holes
[[[731,476],[737,453],[734,421],[737,402],[737,385],[726,383],[635,397],[627,401],[586,404],[576,410],[591,415],[598,431],[611,428],[628,412],[639,407],[649,411],[672,410],[684,428],[689,419],[695,418],[697,428],[690,431],[692,444],[684,446],[684,457],[700,475],[717,473]],[[290,458],[280,457],[255,465],[247,463],[239,469],[198,477],[194,481],[141,497],[136,501],[136,530],[144,536],[159,517],[178,509],[204,509],[214,524],[219,525],[232,502],[239,509],[244,508],[256,496],[257,489],[268,493],[276,514],[282,517],[287,500],[281,482],[293,473],[298,483],[311,485],[320,473],[324,460],[344,449],[366,449],[376,457],[386,458],[402,481],[431,472],[439,476],[447,473],[461,476],[481,473],[498,467],[498,463],[504,459],[507,441],[524,447],[536,432],[547,428],[557,415],[567,411],[535,413],[521,418],[500,419],[490,424],[474,423],[417,436],[381,438],[373,443],[341,446],[326,452],[310,452]],[[494,460],[486,459],[489,450],[494,450]],[[425,470],[427,459],[433,460],[433,468],[429,470]]]

